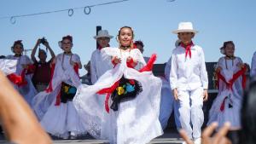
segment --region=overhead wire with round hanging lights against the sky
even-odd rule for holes
[[[88,5],[88,6],[84,6],[84,7],[76,7],[76,8],[70,8],[70,9],[59,9],[59,10],[39,12],[39,13],[33,13],[33,14],[17,14],[17,15],[3,16],[3,17],[0,17],[0,20],[9,19],[11,24],[15,24],[16,18],[34,16],[34,15],[40,15],[40,14],[60,13],[60,12],[64,12],[64,11],[67,11],[68,16],[73,16],[74,10],[76,10],[76,9],[84,9],[84,14],[90,14],[91,8],[93,8],[93,7],[109,5],[109,4],[113,4],[113,3],[123,3],[125,1],[130,1],[130,0],[119,0],[119,1],[113,1],[113,2],[108,2],[108,3],[98,3],[98,4]]]

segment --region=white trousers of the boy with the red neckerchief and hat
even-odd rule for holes
[[[178,112],[183,130],[186,130],[189,138],[201,137],[201,126],[204,122],[203,88],[194,90],[178,89]]]

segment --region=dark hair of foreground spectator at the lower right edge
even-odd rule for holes
[[[247,84],[241,108],[242,144],[256,143],[256,79]]]

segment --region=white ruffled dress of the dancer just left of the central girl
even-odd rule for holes
[[[72,57],[64,54],[56,56],[55,71],[51,80],[53,90],[51,92],[44,90],[38,93],[32,101],[33,110],[44,130],[64,139],[67,139],[70,134],[72,136],[86,134],[86,126],[81,123],[73,101],[61,102],[59,106],[55,106],[62,82],[76,88],[81,84],[79,75],[70,64],[70,59],[80,62],[79,55],[72,55]]]

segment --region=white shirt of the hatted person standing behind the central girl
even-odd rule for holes
[[[95,84],[98,78],[100,78],[105,72],[112,68],[113,65],[111,63],[110,57],[102,55],[101,50],[96,49],[90,57],[91,83]]]

